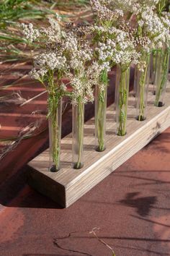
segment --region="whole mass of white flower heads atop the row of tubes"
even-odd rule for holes
[[[97,18],[92,28],[64,25],[59,15],[49,18],[50,25],[40,30],[22,24],[25,38],[31,43],[39,40],[45,48],[35,57],[30,74],[41,82],[49,82],[50,74],[58,80],[66,75],[73,88],[73,104],[93,101],[94,86],[99,85],[101,91],[106,88],[107,72],[113,65],[128,68],[134,63],[143,71],[151,46],[161,48],[169,43],[170,14],[158,15],[158,1],[91,0]],[[132,19],[126,22],[127,17]],[[92,38],[87,36],[89,32]],[[66,90],[63,83],[58,86]]]

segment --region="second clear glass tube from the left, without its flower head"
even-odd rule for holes
[[[73,168],[84,166],[84,103],[81,97],[73,104]]]

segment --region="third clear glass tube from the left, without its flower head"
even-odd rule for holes
[[[99,152],[105,150],[107,111],[107,85],[103,90],[96,86],[95,90],[95,149]]]

